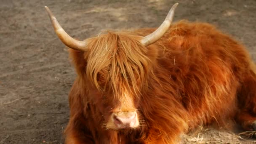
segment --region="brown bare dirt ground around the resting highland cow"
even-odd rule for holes
[[[0,144],[62,144],[75,72],[53,32],[47,5],[82,40],[102,29],[158,27],[179,2],[174,21],[215,24],[242,41],[256,60],[256,0],[1,0]],[[234,131],[204,129],[183,143],[256,143]]]

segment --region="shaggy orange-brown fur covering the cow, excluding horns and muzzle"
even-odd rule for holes
[[[180,21],[156,43],[155,28],[106,32],[70,49],[77,78],[69,94],[67,144],[173,144],[198,125],[245,130],[256,122],[256,69],[245,47],[205,23]],[[139,127],[106,127],[115,107],[133,99]]]

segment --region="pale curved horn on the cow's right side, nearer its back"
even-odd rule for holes
[[[177,7],[178,4],[179,3],[175,3],[171,7],[171,10],[169,11],[168,15],[166,16],[165,21],[163,21],[163,23],[160,25],[160,27],[158,27],[157,30],[155,30],[155,32],[142,38],[141,43],[144,46],[148,46],[148,45],[151,45],[152,43],[155,43],[157,40],[159,40],[165,34],[165,32],[168,30],[168,28],[171,25],[171,21],[173,20],[175,8]]]

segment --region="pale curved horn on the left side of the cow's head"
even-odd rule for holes
[[[57,21],[56,17],[53,16],[53,13],[51,10],[45,6],[45,9],[51,19],[51,23],[53,24],[54,31],[58,35],[59,39],[67,45],[69,48],[78,50],[78,51],[86,51],[86,42],[85,41],[79,41],[75,40],[74,38],[70,37],[67,32],[64,31],[64,29],[61,27],[59,22]]]

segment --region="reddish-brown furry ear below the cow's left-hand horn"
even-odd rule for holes
[[[69,59],[74,64],[76,72],[78,75],[85,73],[86,60],[83,51],[76,51],[69,48]]]

